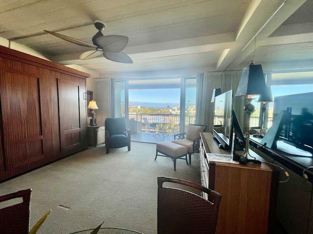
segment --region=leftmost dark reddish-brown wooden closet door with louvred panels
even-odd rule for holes
[[[7,170],[29,167],[44,157],[39,85],[36,74],[1,70],[4,165]]]

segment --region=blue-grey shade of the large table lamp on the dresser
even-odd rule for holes
[[[243,69],[236,96],[262,95],[265,93],[266,83],[262,65],[253,62]]]

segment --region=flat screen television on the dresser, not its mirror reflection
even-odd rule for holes
[[[232,143],[233,90],[227,91],[214,101],[213,140],[220,149],[230,149]]]

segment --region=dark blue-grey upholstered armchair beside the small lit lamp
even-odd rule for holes
[[[105,120],[106,151],[110,148],[128,147],[131,150],[131,132],[127,129],[125,118],[106,118]]]

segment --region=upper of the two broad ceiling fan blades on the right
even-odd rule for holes
[[[128,44],[128,37],[119,35],[108,35],[98,37],[95,39],[95,44],[99,45],[102,49],[113,53],[121,52]]]

